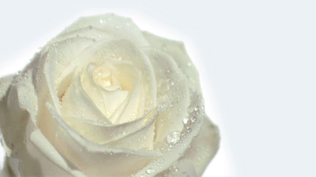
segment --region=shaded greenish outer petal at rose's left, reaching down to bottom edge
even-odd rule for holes
[[[39,152],[35,146],[39,142],[29,141],[31,133],[36,129],[35,116],[38,113],[32,72],[30,70],[22,72],[16,78],[19,80],[14,81],[8,94],[0,101],[2,143],[8,156],[21,160],[17,164],[18,168],[12,169],[17,170],[14,171],[14,174],[17,176],[18,174],[20,176],[52,176],[53,174],[68,176],[68,173],[72,174],[75,171],[70,169],[67,164],[64,163],[64,167],[68,168],[68,172],[47,158],[44,151]],[[51,152],[56,152],[55,155],[58,154],[54,148],[51,149]],[[13,158],[8,158],[10,165],[13,161]]]

